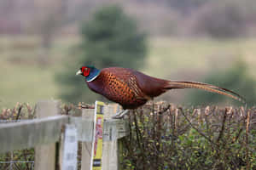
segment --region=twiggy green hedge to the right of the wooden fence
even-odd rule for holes
[[[256,168],[256,130],[251,123],[246,133],[243,108],[163,104],[155,105],[154,112],[150,108],[146,105],[129,118],[131,135],[123,139],[123,169]]]

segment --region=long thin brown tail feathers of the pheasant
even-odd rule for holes
[[[246,100],[241,97],[241,95],[236,94],[235,92],[226,89],[226,88],[219,88],[217,86],[213,86],[212,84],[207,84],[203,82],[173,82],[170,81],[168,85],[166,86],[166,89],[172,89],[172,88],[199,88],[202,90],[206,90],[208,92],[212,92],[215,94],[222,94],[225,96],[229,96],[232,99],[236,99],[241,101],[242,103],[246,103]]]

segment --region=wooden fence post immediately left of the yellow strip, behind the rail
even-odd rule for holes
[[[82,117],[88,120],[94,120],[94,109],[83,109]],[[90,170],[90,154],[91,154],[91,142],[82,142],[82,159],[81,170]]]

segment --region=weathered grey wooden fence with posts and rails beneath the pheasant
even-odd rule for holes
[[[72,125],[77,131],[77,139],[82,142],[81,169],[89,170],[94,109],[77,110],[74,116],[61,116],[61,102],[45,100],[38,102],[35,111],[36,119],[0,124],[0,153],[34,147],[36,170],[65,169],[62,167],[64,132]],[[119,139],[129,134],[128,122],[110,118],[116,111],[116,105],[104,107],[103,170],[118,169]]]

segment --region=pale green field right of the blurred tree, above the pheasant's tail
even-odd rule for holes
[[[148,65],[155,76],[169,77],[177,71],[212,71],[229,67],[243,58],[256,76],[256,39],[217,41],[212,39],[155,38],[150,42]]]

